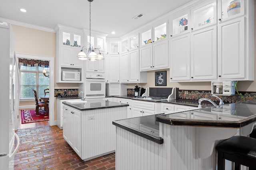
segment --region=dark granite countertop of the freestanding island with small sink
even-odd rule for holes
[[[81,111],[129,106],[128,104],[122,104],[122,103],[111,102],[106,100],[87,100],[86,102],[87,103],[80,103],[80,104],[69,104],[67,102],[63,102],[63,104]]]

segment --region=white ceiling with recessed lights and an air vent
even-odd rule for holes
[[[94,0],[91,29],[120,37],[192,0]],[[27,10],[20,12],[20,8]],[[144,14],[138,20],[137,14]],[[89,29],[88,0],[0,0],[0,18],[54,29],[57,24]],[[115,35],[111,32],[115,31]]]

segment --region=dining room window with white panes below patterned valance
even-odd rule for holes
[[[38,96],[44,95],[44,89],[49,88],[50,78],[44,76],[43,69],[46,74],[49,73],[49,68],[20,65],[20,99],[34,98],[32,89],[37,91]]]

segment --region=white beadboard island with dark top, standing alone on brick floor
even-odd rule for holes
[[[83,160],[116,149],[112,121],[127,118],[128,104],[106,100],[63,102],[63,137]]]

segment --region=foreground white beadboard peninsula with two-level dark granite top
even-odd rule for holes
[[[147,121],[136,117],[113,122],[117,170],[214,170],[214,146],[234,135],[251,133],[256,101],[154,116],[148,116]],[[152,134],[157,123],[159,134]],[[145,125],[152,130],[145,131]],[[226,166],[231,169],[231,164]]]

